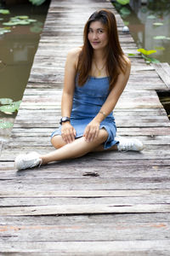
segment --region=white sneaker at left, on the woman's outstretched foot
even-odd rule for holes
[[[19,154],[14,160],[14,166],[16,169],[25,170],[35,166],[41,166],[42,160],[37,152],[31,152],[29,154]]]

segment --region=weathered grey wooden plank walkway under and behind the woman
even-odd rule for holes
[[[16,154],[54,149],[66,54],[101,8],[115,13],[124,52],[137,53],[110,2],[51,1],[12,136],[0,144],[0,255],[170,255],[170,122],[156,94],[167,85],[139,55],[115,117],[119,135],[144,142],[142,153],[14,169]]]

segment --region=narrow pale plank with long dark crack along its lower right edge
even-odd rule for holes
[[[170,212],[169,204],[138,204],[138,205],[62,205],[41,207],[2,207],[2,216],[23,215],[54,215],[54,214],[99,214],[99,213],[133,213],[133,212]]]

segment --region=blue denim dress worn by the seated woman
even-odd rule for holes
[[[94,119],[99,113],[100,108],[105,103],[109,95],[109,77],[94,78],[89,77],[83,86],[78,86],[76,77],[76,86],[73,96],[73,104],[71,110],[71,125],[77,131],[77,137],[82,137],[88,123]],[[119,142],[116,137],[116,123],[111,112],[101,123],[99,129],[105,128],[108,132],[107,140],[104,143],[104,148],[111,148]],[[61,135],[61,125],[54,131],[51,137]]]

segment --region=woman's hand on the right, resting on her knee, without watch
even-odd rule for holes
[[[85,128],[83,136],[85,140],[89,143],[94,141],[99,135],[99,122],[92,120]]]

